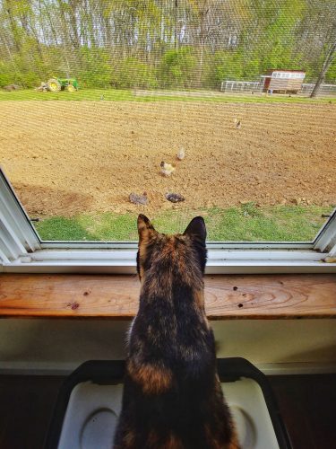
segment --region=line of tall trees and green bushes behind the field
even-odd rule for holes
[[[217,89],[269,68],[336,83],[335,49],[335,0],[0,0],[0,86]]]

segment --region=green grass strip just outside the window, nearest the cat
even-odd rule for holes
[[[212,242],[309,242],[326,221],[333,207],[274,206],[240,207],[161,212],[150,216],[162,233],[182,233],[197,215],[204,217],[208,241]],[[66,218],[53,216],[37,223],[36,229],[45,241],[136,241],[135,214],[80,215]]]

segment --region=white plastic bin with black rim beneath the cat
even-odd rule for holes
[[[65,381],[46,449],[111,449],[123,392],[122,361],[90,361]],[[220,381],[243,449],[289,449],[267,378],[243,358],[218,360]]]

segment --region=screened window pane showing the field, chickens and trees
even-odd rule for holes
[[[0,20],[0,163],[41,239],[136,240],[142,213],[307,242],[335,207],[334,0],[0,0]]]

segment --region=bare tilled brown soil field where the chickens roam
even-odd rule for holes
[[[0,163],[31,215],[138,211],[128,196],[144,191],[150,213],[331,205],[335,123],[336,105],[321,103],[4,101]],[[171,177],[161,161],[176,165]],[[185,202],[169,203],[167,191]]]

